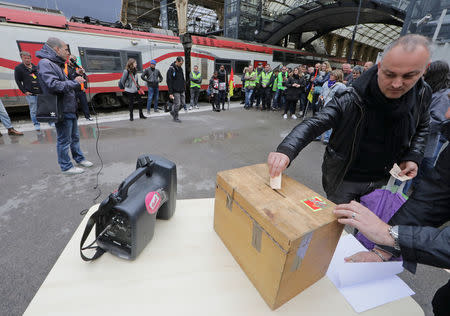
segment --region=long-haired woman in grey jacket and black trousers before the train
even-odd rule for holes
[[[130,121],[133,121],[133,109],[134,104],[137,103],[139,109],[139,118],[146,119],[144,113],[142,113],[142,99],[139,94],[140,86],[137,74],[137,62],[135,59],[128,59],[127,66],[123,71],[120,81],[125,87],[125,95],[128,97],[128,110],[130,111]]]

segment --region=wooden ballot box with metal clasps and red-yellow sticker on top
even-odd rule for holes
[[[343,225],[335,204],[283,175],[269,185],[266,164],[217,174],[214,229],[271,309],[317,282]]]

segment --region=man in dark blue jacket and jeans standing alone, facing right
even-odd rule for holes
[[[69,48],[62,40],[50,37],[42,49],[36,53],[41,58],[38,64],[39,83],[44,95],[57,94],[63,104],[64,119],[56,126],[56,151],[61,171],[65,174],[83,173],[84,169],[74,167],[70,161],[69,149],[75,162],[82,167],[93,164],[84,158],[80,148],[80,133],[77,123],[77,101],[75,91],[85,80],[81,76],[70,80],[64,73],[64,65],[69,57]]]

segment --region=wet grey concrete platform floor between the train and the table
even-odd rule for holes
[[[59,170],[54,129],[38,134],[28,122],[14,122],[25,136],[10,137],[0,130],[0,315],[24,312],[81,222],[80,212],[115,190],[135,169],[140,154],[158,154],[177,164],[180,199],[213,197],[218,171],[265,162],[298,123],[282,120],[279,113],[245,111],[237,103],[221,113],[202,108],[181,113],[182,124],[171,122],[167,113],[152,112],[149,119],[134,122],[126,112],[101,115],[101,192],[95,188],[100,168],[95,124],[80,119],[81,147],[95,166],[76,176]],[[320,194],[324,148],[310,144],[287,171]],[[416,291],[414,299],[425,314],[432,315],[431,298],[448,273],[419,266],[416,276],[403,272],[401,277]]]

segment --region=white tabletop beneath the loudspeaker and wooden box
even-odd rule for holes
[[[423,315],[407,297],[357,314],[324,277],[275,311],[213,229],[214,199],[177,201],[135,261],[80,258],[89,210],[24,315]],[[91,236],[89,240],[93,240]]]

